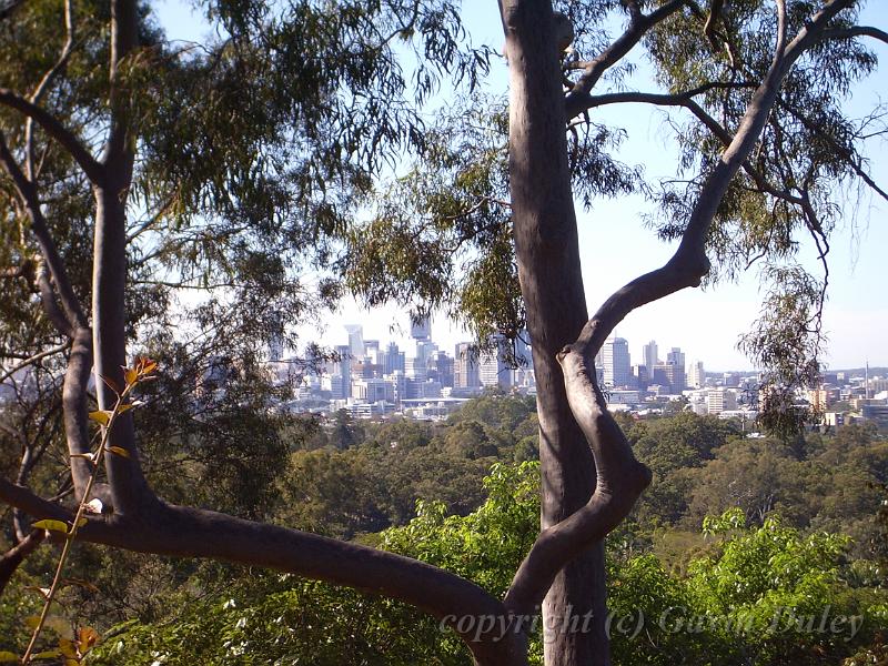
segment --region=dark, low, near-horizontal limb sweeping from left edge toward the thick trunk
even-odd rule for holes
[[[34,518],[72,518],[67,509],[4,480],[0,480],[0,500]],[[134,518],[119,514],[90,518],[78,532],[78,539],[140,553],[225,559],[347,585],[401,599],[452,624],[466,615],[506,617],[503,604],[487,592],[432,565],[359,544],[159,500],[150,511]],[[473,625],[463,638],[478,664],[526,663],[522,660],[523,633],[509,633],[496,640],[497,627],[474,640],[476,628]]]

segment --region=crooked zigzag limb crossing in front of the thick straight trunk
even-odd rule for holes
[[[601,541],[628,515],[650,482],[638,463],[596,384],[593,360],[614,327],[633,310],[687,286],[699,285],[708,272],[705,241],[730,180],[758,142],[783,79],[813,43],[815,36],[852,0],[833,0],[791,41],[787,41],[786,7],[777,1],[778,37],[771,65],[756,89],[737,133],[706,179],[673,258],[662,268],[614,293],[583,329],[577,341],[558,355],[571,410],[592,447],[597,485],[589,501],[565,521],[544,529],[518,568],[506,595],[506,607],[526,613],[543,601],[557,573],[585,548]]]

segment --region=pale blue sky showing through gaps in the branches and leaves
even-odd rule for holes
[[[486,43],[501,50],[503,43],[497,4],[494,0],[468,0],[465,21],[476,44]],[[870,2],[864,22],[888,26],[888,8],[882,2]],[[199,39],[204,31],[195,19],[189,18],[188,6],[175,0],[159,4],[161,21],[173,39]],[[882,69],[855,93],[850,102],[857,112],[864,112],[878,99],[879,91],[888,90],[888,48],[872,42]],[[640,67],[639,72],[646,68]],[[628,89],[653,90],[653,83],[643,74],[628,79]],[[493,92],[505,92],[507,81],[505,64],[495,67],[488,85]],[[669,130],[664,115],[649,107],[608,108],[596,112],[595,120],[605,120],[623,127],[628,132],[619,159],[629,164],[645,165],[652,178],[668,176],[676,160]],[[881,155],[886,145],[869,149],[871,172],[882,186],[888,185],[888,167]],[[829,335],[827,362],[831,367],[860,366],[868,359],[871,365],[888,365],[888,204],[862,192],[845,206],[844,228],[836,230],[830,252],[830,292],[825,310],[825,330]],[[589,213],[579,212],[579,240],[589,310],[636,275],[668,259],[672,248],[658,241],[643,223],[649,204],[636,196],[601,201]],[[856,215],[855,215],[856,211]],[[804,246],[800,259],[813,269],[816,255]],[[630,314],[617,329],[617,334],[629,342],[634,362],[640,357],[640,347],[654,339],[662,355],[672,346],[680,346],[688,361],[699,359],[708,370],[748,367],[749,363],[737,352],[735,344],[758,313],[760,296],[755,269],[738,284],[720,284],[714,289],[685,290],[658,303],[653,303]],[[344,323],[360,322],[365,327],[365,339],[403,339],[407,316],[390,306],[373,312],[362,311],[346,303],[341,312],[327,320],[324,342],[344,342]],[[392,324],[402,326],[398,333],[390,332]],[[453,353],[455,342],[464,334],[436,317],[433,325],[435,340]]]

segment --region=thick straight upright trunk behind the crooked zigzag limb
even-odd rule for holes
[[[568,406],[556,361],[577,339],[587,311],[552,7],[548,0],[513,0],[502,8],[515,250],[533,343],[545,528],[584,506],[595,490],[592,452]],[[588,617],[592,622],[584,623]],[[599,543],[568,564],[549,588],[543,605],[545,663],[609,664],[605,618]]]

